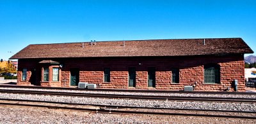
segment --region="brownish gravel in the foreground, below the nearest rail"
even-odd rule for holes
[[[0,106],[0,123],[254,123],[237,118],[102,114],[38,107]]]

